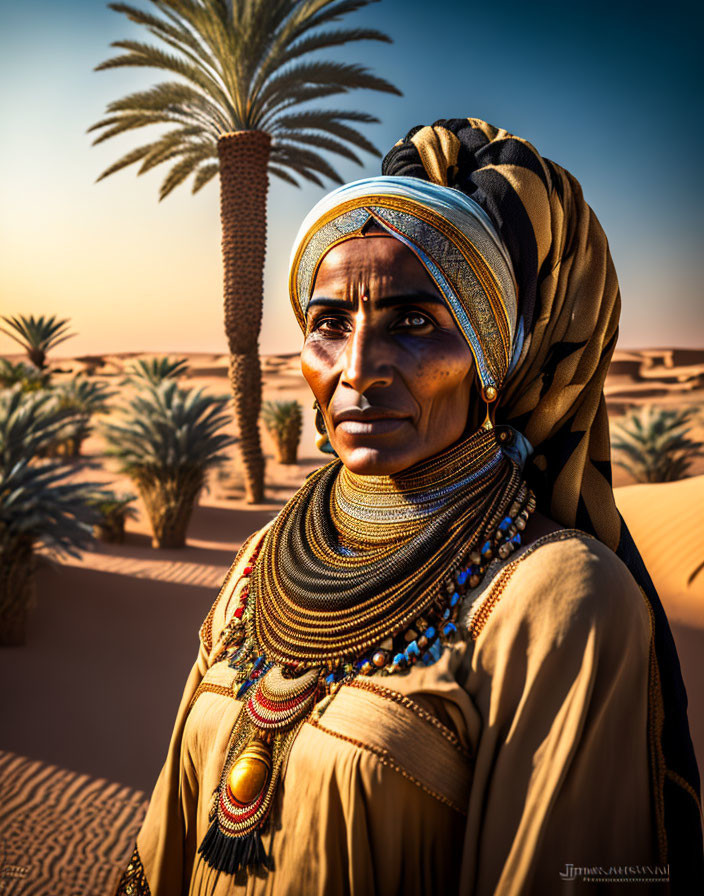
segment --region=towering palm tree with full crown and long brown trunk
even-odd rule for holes
[[[230,387],[250,502],[260,501],[264,489],[258,341],[269,174],[295,186],[299,178],[322,186],[322,178],[340,177],[321,151],[359,164],[354,149],[379,155],[356,127],[377,122],[373,115],[308,105],[357,88],[400,93],[362,65],[317,55],[356,41],[388,43],[373,28],[327,27],[372,2],[152,0],[155,13],[109,4],[161,44],[116,41],[113,46],[124,52],[98,70],[147,66],[179,80],[110,103],[107,117],[90,129],[101,132],[95,143],[146,125],[173,127],[128,152],[98,179],[128,165],[140,163],[142,174],[170,162],[159,193],[163,199],[190,175],[196,193],[219,174]]]

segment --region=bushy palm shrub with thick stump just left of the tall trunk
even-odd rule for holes
[[[152,545],[183,547],[208,471],[224,461],[234,439],[227,398],[179,389],[171,379],[147,385],[104,427],[108,451],[135,483],[152,526]]]

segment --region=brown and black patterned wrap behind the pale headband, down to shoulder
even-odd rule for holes
[[[579,184],[525,140],[475,119],[414,129],[383,171],[454,187],[491,216],[513,262],[525,333],[496,419],[533,446],[526,475],[543,511],[615,550],[621,521],[603,386],[620,295]]]

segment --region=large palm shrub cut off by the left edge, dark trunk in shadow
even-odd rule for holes
[[[25,641],[36,548],[76,554],[91,539],[97,486],[70,482],[69,468],[37,460],[72,413],[48,392],[0,392],[1,645]]]

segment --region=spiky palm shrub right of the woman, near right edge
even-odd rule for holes
[[[695,457],[704,454],[701,442],[690,438],[697,409],[647,405],[631,411],[614,427],[614,463],[637,482],[684,479]]]

